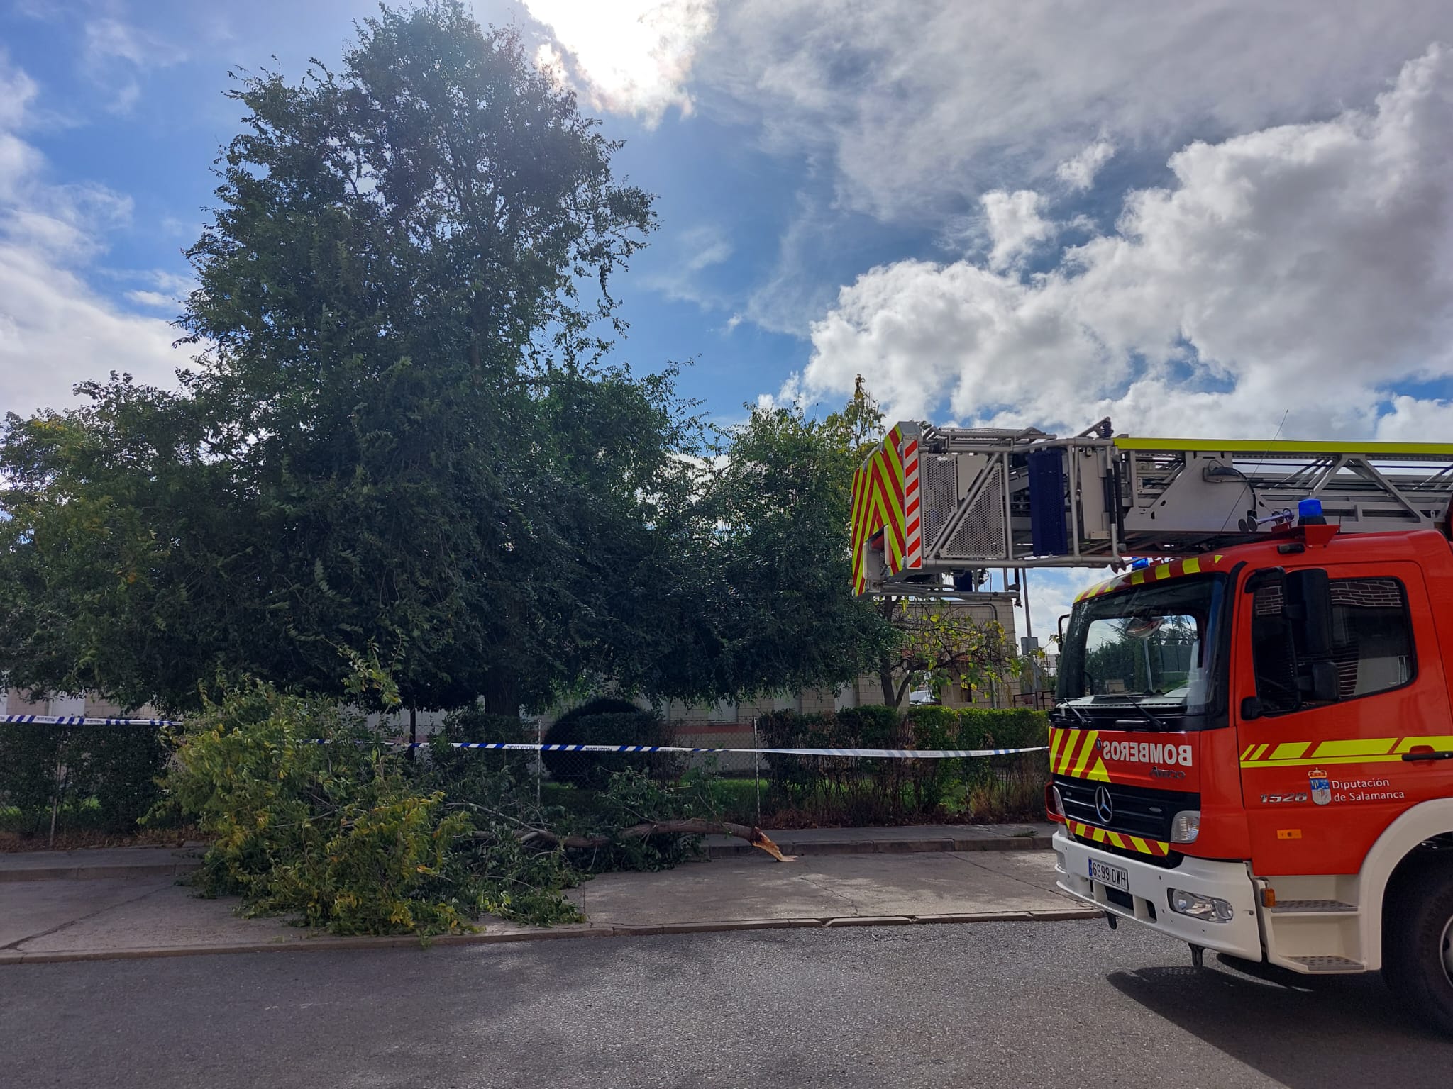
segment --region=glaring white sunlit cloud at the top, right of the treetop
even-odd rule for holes
[[[716,0],[523,0],[570,54],[543,45],[536,64],[556,80],[574,68],[597,109],[634,113],[648,126],[676,106],[692,112],[686,81],[702,39],[716,22]]]

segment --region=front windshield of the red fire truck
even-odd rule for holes
[[[1216,648],[1225,581],[1146,582],[1077,604],[1061,650],[1061,701],[1074,710],[1136,703],[1152,723],[1213,713],[1225,688]]]

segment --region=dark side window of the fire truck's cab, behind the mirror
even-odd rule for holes
[[[1337,698],[1354,700],[1412,681],[1412,621],[1408,595],[1395,578],[1338,578],[1331,581],[1332,665]],[[1302,648],[1295,626],[1282,616],[1282,587],[1257,590],[1251,607],[1251,655],[1257,698],[1263,713],[1286,714],[1309,703],[1298,684]]]

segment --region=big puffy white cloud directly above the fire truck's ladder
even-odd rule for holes
[[[802,376],[899,417],[1145,434],[1370,436],[1398,382],[1453,375],[1453,55],[1370,110],[1196,142],[1174,184],[1024,279],[898,261],[841,289]],[[1395,401],[1385,433],[1444,427]],[[1436,436],[1441,437],[1441,436]]]

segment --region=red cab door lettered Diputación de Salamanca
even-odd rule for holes
[[[1238,595],[1234,714],[1252,867],[1264,876],[1357,873],[1398,813],[1449,788],[1453,761],[1404,759],[1453,748],[1420,568],[1325,571],[1331,640],[1315,680],[1296,610],[1284,608],[1287,584],[1257,585],[1247,572]]]

